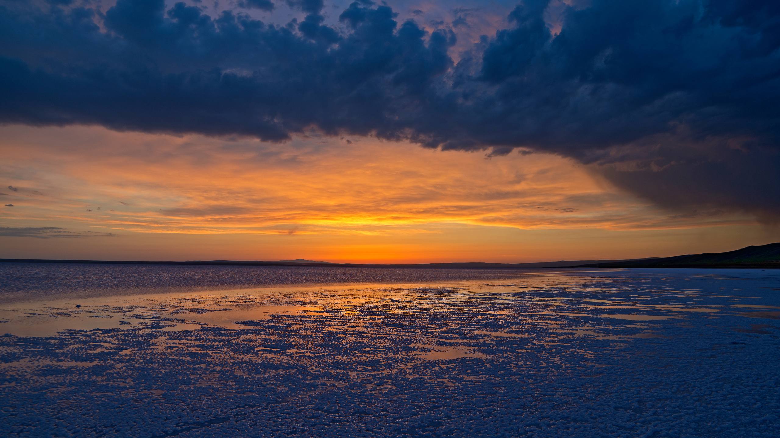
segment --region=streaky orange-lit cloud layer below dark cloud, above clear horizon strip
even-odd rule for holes
[[[416,234],[432,232],[431,224],[631,230],[752,223],[727,211],[668,213],[551,154],[485,159],[376,140],[310,138],[277,147],[21,126],[6,129],[6,138],[17,146],[10,163],[45,171],[28,183],[60,193],[24,198],[20,220],[34,211],[39,219],[133,232],[296,236]],[[50,146],[50,138],[67,140]],[[122,147],[103,147],[109,143]]]

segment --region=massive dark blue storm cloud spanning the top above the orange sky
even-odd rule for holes
[[[780,214],[780,2],[593,0],[452,61],[449,30],[355,2],[275,26],[162,0],[0,9],[0,121],[282,141],[304,129],[562,154],[672,208]],[[478,12],[472,12],[478,13]],[[456,26],[457,23],[451,23]]]

